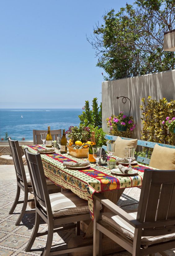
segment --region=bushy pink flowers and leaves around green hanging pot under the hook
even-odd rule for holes
[[[111,115],[106,119],[107,121],[107,127],[110,128],[110,134],[112,135],[118,135],[118,136],[125,136],[125,137],[131,137],[131,133],[133,132],[134,128],[136,127],[136,124],[134,123],[134,119],[132,116],[128,117],[123,114],[123,111],[120,112],[118,116]],[[123,127],[127,127],[126,132],[119,132],[117,129],[117,124],[122,125]]]

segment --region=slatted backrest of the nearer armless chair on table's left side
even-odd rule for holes
[[[51,214],[52,216],[52,209],[47,190],[41,155],[32,154],[28,151],[27,148],[25,148],[24,151],[35,197],[35,207],[40,208],[39,204],[41,204],[47,209],[47,213]]]

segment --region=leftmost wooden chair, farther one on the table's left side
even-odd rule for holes
[[[16,226],[18,226],[25,213],[35,213],[35,210],[26,211],[27,203],[34,201],[34,199],[28,199],[28,193],[32,193],[33,188],[32,188],[32,183],[30,180],[29,173],[26,172],[28,171],[27,165],[24,166],[23,164],[18,141],[11,140],[11,137],[9,137],[8,142],[11,149],[11,155],[14,161],[14,166],[16,171],[16,181],[17,181],[16,198],[9,211],[9,214],[12,214],[14,212],[17,204],[23,204],[21,213],[15,224]],[[25,170],[25,167],[27,168],[27,170]],[[49,190],[59,188],[58,186],[53,184],[53,182],[51,182],[49,179],[46,179],[46,180],[47,180],[47,185]],[[24,191],[24,200],[19,201],[21,189]]]

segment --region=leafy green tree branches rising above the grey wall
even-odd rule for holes
[[[138,0],[114,9],[87,38],[96,50],[105,80],[150,74],[174,68],[173,52],[163,50],[164,32],[175,25],[174,0]]]

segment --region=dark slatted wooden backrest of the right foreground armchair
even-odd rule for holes
[[[146,231],[147,236],[164,235],[175,232],[175,170],[145,169],[141,187],[137,220],[152,222],[152,229]],[[172,227],[166,227],[168,221]],[[159,228],[154,228],[159,225]],[[155,226],[154,226],[155,225]],[[169,229],[169,230],[168,230]]]

